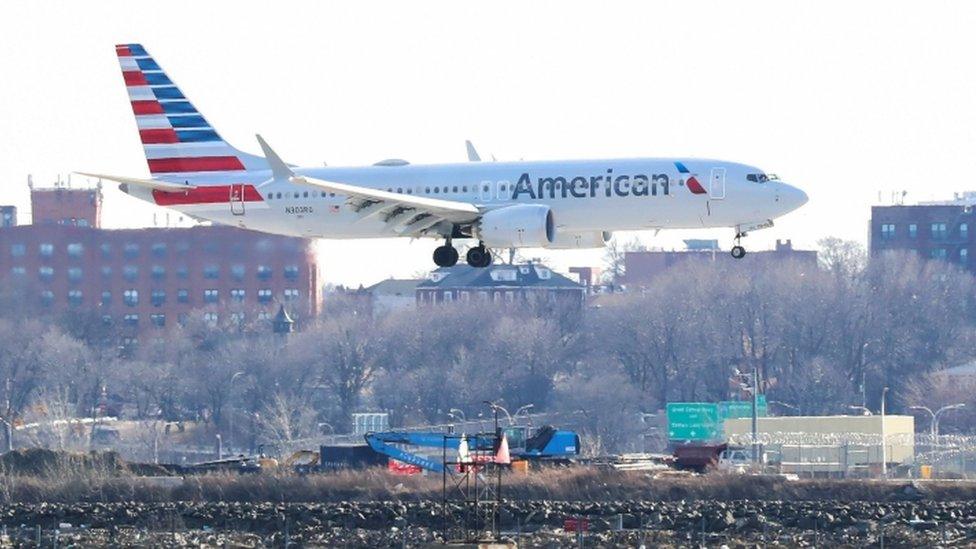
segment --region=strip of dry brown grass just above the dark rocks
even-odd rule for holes
[[[0,475],[0,503],[116,501],[337,502],[439,499],[441,477],[396,476],[383,469],[334,474],[217,473],[160,482],[125,468],[79,465],[65,460],[42,474]],[[509,474],[503,496],[517,500],[868,500],[913,498],[969,500],[976,483],[803,480],[708,475],[653,478],[642,472],[589,467],[552,468],[528,475]]]

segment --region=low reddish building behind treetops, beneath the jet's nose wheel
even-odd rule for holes
[[[742,259],[735,259],[729,253],[720,250],[716,240],[686,240],[685,244],[687,247],[685,250],[626,252],[624,284],[629,286],[647,284],[671,267],[684,265],[688,261],[723,264],[732,262],[769,264],[793,261],[808,265],[810,268],[817,266],[817,252],[795,250],[792,240],[777,240],[776,247],[772,250],[750,250]]]

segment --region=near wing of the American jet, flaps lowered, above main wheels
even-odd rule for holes
[[[481,210],[469,202],[391,193],[302,175],[289,180],[348,196],[346,203],[359,213],[359,221],[385,219],[387,229],[396,234],[419,236],[442,221],[471,223],[481,217]]]

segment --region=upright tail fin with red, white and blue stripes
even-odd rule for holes
[[[268,169],[264,158],[224,141],[142,45],[117,45],[115,52],[153,178]]]

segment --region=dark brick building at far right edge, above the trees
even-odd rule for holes
[[[976,193],[953,200],[916,205],[873,206],[869,249],[872,255],[888,250],[913,250],[930,259],[956,263],[976,273],[969,259],[976,227]]]

